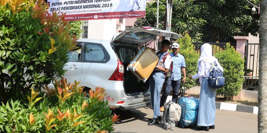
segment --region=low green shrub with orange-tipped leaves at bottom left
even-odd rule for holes
[[[55,88],[44,93],[34,90],[29,102],[10,100],[0,105],[1,133],[107,133],[118,120],[111,115],[105,90],[96,88],[85,98],[79,82],[55,81]]]

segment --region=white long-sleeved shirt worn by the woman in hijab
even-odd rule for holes
[[[223,67],[219,64],[218,61],[216,61],[216,64],[223,71]],[[210,74],[211,63],[201,61],[197,67],[198,67],[198,73],[193,75],[192,78],[193,79],[199,78],[199,82],[201,84],[202,83],[202,77],[207,77]]]

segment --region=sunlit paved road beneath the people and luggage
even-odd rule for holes
[[[153,111],[150,107],[130,111],[116,110],[120,120],[115,123],[115,133],[207,133],[196,128],[174,131],[164,130],[163,123],[157,126],[147,126],[148,118],[152,118]],[[216,110],[215,130],[209,133],[258,133],[257,114]]]

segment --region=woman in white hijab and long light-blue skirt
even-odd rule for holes
[[[199,130],[209,131],[215,129],[215,97],[216,89],[211,88],[208,84],[207,75],[210,74],[211,64],[216,62],[217,66],[223,71],[223,67],[219,64],[218,60],[212,56],[212,47],[209,43],[205,43],[201,46],[201,55],[198,59],[198,73],[189,76],[189,79],[199,78],[201,84],[199,95],[199,109],[197,128]]]

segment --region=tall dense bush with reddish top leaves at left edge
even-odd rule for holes
[[[47,15],[41,0],[3,0],[0,6],[0,100],[23,99],[64,74],[75,45],[63,15]]]

